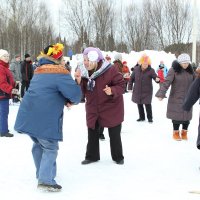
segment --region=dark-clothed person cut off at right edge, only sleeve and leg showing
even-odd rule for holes
[[[190,112],[192,106],[200,98],[200,77],[196,78],[195,81],[191,84],[190,89],[186,95],[185,101],[183,103],[183,109],[187,112]],[[199,118],[199,128],[198,128],[198,137],[197,137],[197,148],[200,149],[200,118]]]

